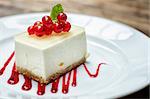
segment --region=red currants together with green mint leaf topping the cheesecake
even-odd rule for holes
[[[54,22],[54,23],[53,23]],[[68,32],[71,24],[67,22],[67,15],[64,13],[61,4],[52,8],[50,16],[43,16],[42,21],[36,21],[33,26],[28,27],[28,34],[35,34],[38,37],[55,33]]]

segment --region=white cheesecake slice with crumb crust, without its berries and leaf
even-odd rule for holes
[[[86,45],[84,28],[74,25],[68,33],[52,36],[19,34],[15,37],[17,70],[48,84],[86,61]]]

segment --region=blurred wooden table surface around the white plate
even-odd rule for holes
[[[66,12],[104,17],[128,24],[150,37],[149,0],[0,0],[0,17],[50,11],[62,3]],[[148,98],[149,86],[123,98]]]

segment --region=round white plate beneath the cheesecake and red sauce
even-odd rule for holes
[[[0,19],[0,67],[14,50],[13,37],[24,32],[35,21],[41,20],[43,15],[48,13],[23,14]],[[13,58],[4,74],[0,76],[0,97],[117,98],[138,91],[149,84],[148,48],[150,44],[148,42],[150,40],[147,36],[131,27],[103,18],[79,14],[68,14],[68,17],[71,24],[85,27],[90,53],[86,63],[88,69],[94,73],[100,62],[107,63],[101,66],[98,77],[89,78],[84,67],[80,66],[77,73],[78,85],[70,86],[68,94],[62,94],[61,85],[58,93],[52,94],[51,84],[49,84],[46,87],[46,93],[38,96],[35,81],[32,82],[33,87],[30,91],[21,90],[24,82],[21,75],[17,85],[7,84],[14,62]]]

